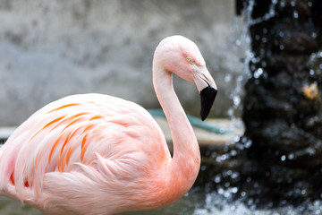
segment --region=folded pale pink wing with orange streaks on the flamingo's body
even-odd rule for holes
[[[170,159],[161,129],[143,107],[101,94],[73,95],[39,109],[4,144],[0,189],[38,208],[54,194],[64,196],[56,196],[58,205],[75,195],[90,202],[95,183],[115,200]]]

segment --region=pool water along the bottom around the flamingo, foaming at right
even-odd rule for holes
[[[44,215],[44,213],[5,197],[0,197],[1,215]],[[153,211],[124,212],[119,215],[322,215],[322,201],[303,202],[300,206],[257,209],[252,202],[229,200],[229,193],[191,191],[181,200]]]

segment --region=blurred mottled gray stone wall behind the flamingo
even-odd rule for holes
[[[19,125],[74,93],[159,107],[152,56],[159,40],[174,34],[199,45],[219,87],[211,116],[225,116],[233,88],[225,75],[243,70],[239,23],[233,0],[0,0],[0,126]],[[195,87],[174,82],[188,113],[198,115]]]

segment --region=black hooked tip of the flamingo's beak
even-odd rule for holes
[[[200,91],[200,99],[201,99],[200,117],[202,121],[204,121],[207,118],[210,112],[210,109],[216,99],[216,94],[217,94],[217,90],[210,86]]]

